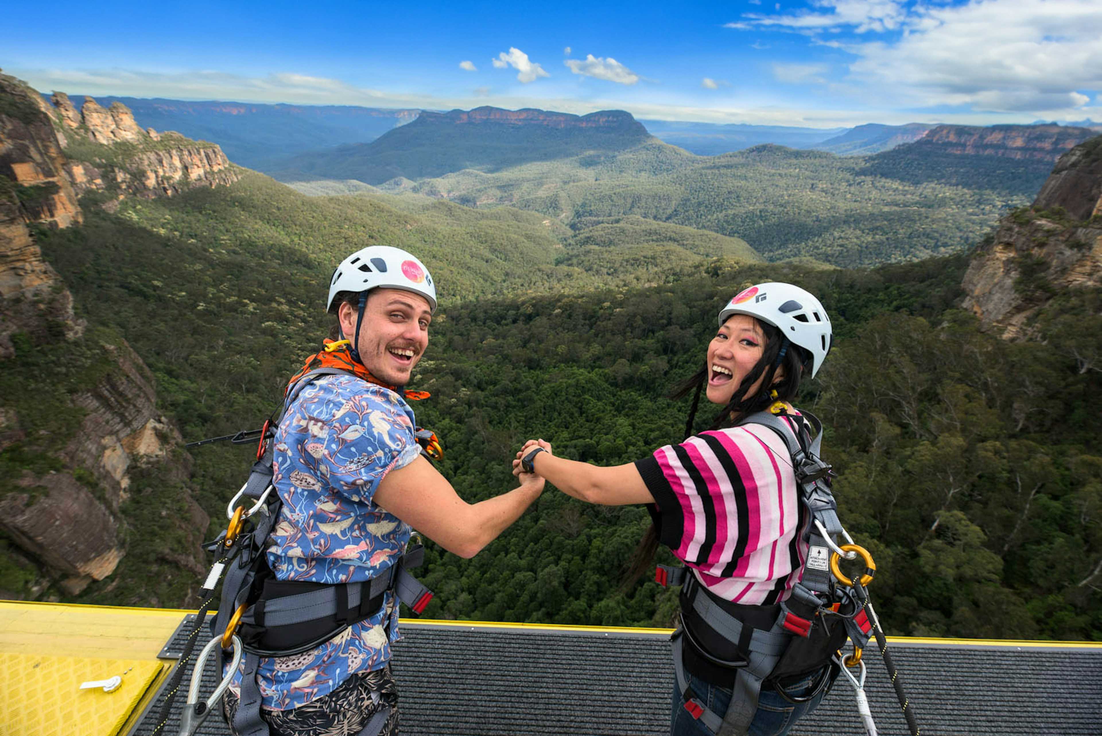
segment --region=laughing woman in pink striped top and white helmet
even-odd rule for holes
[[[808,556],[810,520],[799,502],[785,440],[759,424],[737,423],[769,408],[795,435],[804,419],[788,402],[804,372],[813,376],[819,371],[830,344],[830,321],[818,299],[790,284],[759,284],[720,312],[704,367],[681,392],[696,390],[690,428],[701,388],[707,401],[723,407],[712,430],[611,468],[555,457],[543,440],[526,442],[514,461],[515,473],[534,471],[590,503],[650,504],[653,525],[640,544],[636,567],[647,566],[661,543],[691,572],[681,598],[679,648],[688,676],[685,686],[674,687],[670,729],[676,736],[787,734],[819,704],[833,674],[817,666],[779,681],[766,678],[755,705],[754,694],[737,684],[738,668],[721,664],[736,664],[747,652],[717,636],[691,602],[703,596],[750,627],[744,628],[747,632],[776,630],[780,604]],[[735,687],[739,696],[732,705]],[[722,728],[709,728],[700,705],[719,718],[732,705],[732,714],[744,712],[741,725],[738,716],[728,716]]]

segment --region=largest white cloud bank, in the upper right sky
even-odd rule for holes
[[[801,33],[852,54],[842,90],[878,109],[962,106],[1059,118],[1088,104],[1084,93],[1102,89],[1099,0],[810,4],[798,12],[745,13],[725,28]],[[843,31],[873,39],[847,40]],[[822,82],[824,72],[813,64],[774,66],[777,79],[792,84]]]

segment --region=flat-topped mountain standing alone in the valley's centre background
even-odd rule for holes
[[[495,172],[531,163],[592,154],[604,157],[658,142],[623,110],[570,115],[537,109],[422,113],[370,143],[342,146],[289,159],[273,175],[283,181],[431,179],[464,169]]]

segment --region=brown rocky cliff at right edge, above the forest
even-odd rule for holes
[[[1029,337],[1051,291],[1102,286],[1102,136],[1065,153],[1033,206],[1007,215],[964,275],[964,307],[1004,338]]]

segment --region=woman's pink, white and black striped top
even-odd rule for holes
[[[810,519],[774,430],[705,431],[636,466],[655,497],[659,538],[704,587],[752,606],[788,598],[808,554]]]

